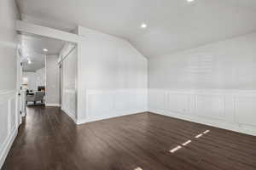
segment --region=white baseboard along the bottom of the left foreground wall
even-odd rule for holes
[[[12,144],[15,141],[15,138],[16,138],[17,134],[18,134],[18,129],[15,128],[13,130],[13,132],[10,133],[9,138],[7,138],[5,140],[5,142],[3,143],[3,148],[1,148],[1,150],[0,150],[1,151],[0,152],[0,169],[3,166],[3,163],[4,163],[6,157],[7,157],[8,153],[9,153],[9,150],[10,150]]]

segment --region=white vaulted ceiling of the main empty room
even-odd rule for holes
[[[22,20],[84,26],[129,40],[146,57],[256,31],[255,0],[17,0]],[[140,29],[145,22],[148,28]]]

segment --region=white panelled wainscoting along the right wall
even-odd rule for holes
[[[256,91],[149,88],[148,111],[256,135]]]

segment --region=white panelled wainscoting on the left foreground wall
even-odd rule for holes
[[[16,92],[0,91],[0,168],[15,140],[17,129]]]

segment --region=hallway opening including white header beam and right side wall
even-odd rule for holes
[[[54,106],[76,122],[79,36],[22,21],[16,24],[21,115],[26,116],[29,107]]]

